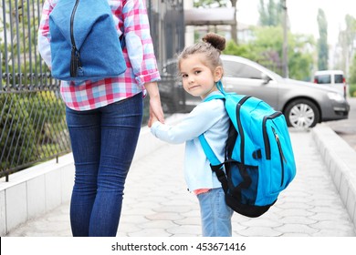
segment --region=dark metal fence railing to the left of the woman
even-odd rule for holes
[[[70,151],[58,80],[37,51],[43,1],[1,0],[0,177]]]

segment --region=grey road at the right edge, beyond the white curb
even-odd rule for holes
[[[351,106],[349,118],[326,124],[356,150],[356,97],[349,97],[348,101]]]

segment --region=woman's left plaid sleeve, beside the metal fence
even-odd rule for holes
[[[47,66],[51,67],[51,51],[50,51],[50,34],[49,34],[49,14],[51,13],[53,6],[50,0],[45,0],[42,8],[42,15],[39,21],[38,34],[37,34],[37,46],[38,52],[45,60]]]

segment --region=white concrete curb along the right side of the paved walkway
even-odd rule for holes
[[[356,228],[356,151],[325,124],[312,128],[311,137]]]

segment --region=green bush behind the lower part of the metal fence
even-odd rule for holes
[[[54,91],[0,93],[0,176],[70,150],[65,107]]]

